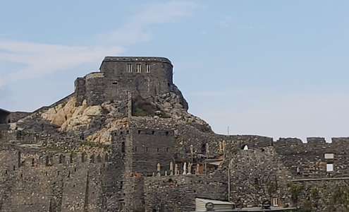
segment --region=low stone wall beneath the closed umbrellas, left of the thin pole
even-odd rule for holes
[[[145,177],[145,211],[195,211],[195,198],[226,200],[226,170],[215,175]]]

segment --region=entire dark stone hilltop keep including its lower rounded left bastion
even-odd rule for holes
[[[127,100],[128,93],[143,98],[174,92],[173,66],[163,57],[105,57],[100,72],[75,81],[75,98],[81,105],[101,105],[106,101]],[[188,103],[183,100],[188,108]]]

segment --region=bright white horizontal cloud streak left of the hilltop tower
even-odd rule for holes
[[[43,73],[72,68],[78,64],[101,61],[107,54],[118,55],[122,47],[78,47],[43,45],[31,42],[0,42],[0,60],[25,64],[27,67],[6,76],[6,83],[32,78]]]

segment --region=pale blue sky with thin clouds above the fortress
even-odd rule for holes
[[[50,105],[106,55],[159,56],[217,133],[349,136],[349,1],[101,2],[0,0],[1,108]]]

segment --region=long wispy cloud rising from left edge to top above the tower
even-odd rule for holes
[[[149,25],[171,23],[180,18],[188,18],[198,7],[199,5],[192,1],[149,4],[142,8],[142,12],[130,18],[123,27],[110,33],[96,35],[97,39],[90,47],[47,45],[4,40],[0,37],[0,61],[25,65],[24,69],[11,71],[6,76],[2,76],[0,86],[23,78],[70,69],[79,64],[101,61],[106,55],[120,55],[125,51],[125,45],[152,39]]]

